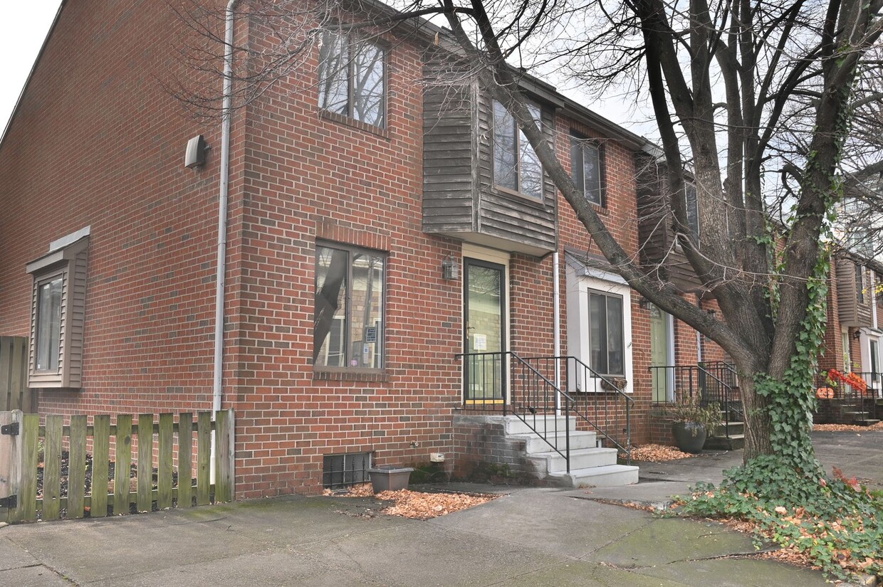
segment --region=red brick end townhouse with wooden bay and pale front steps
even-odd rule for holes
[[[279,42],[242,14],[233,31],[240,46]],[[238,498],[438,453],[457,476],[578,483],[553,454],[571,425],[572,469],[637,480],[611,443],[626,410],[630,440],[651,439],[653,403],[675,387],[651,365],[714,346],[600,260],[508,113],[440,66],[437,32],[321,34],[233,112],[217,364],[225,154],[221,123],[166,89],[191,75],[187,28],[164,6],[64,3],[0,144],[0,335],[29,337],[41,413],[209,410],[221,394]],[[522,87],[637,256],[651,146],[538,80]],[[186,168],[198,135],[205,162]],[[543,417],[568,398],[585,418]]]

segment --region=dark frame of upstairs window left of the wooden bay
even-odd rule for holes
[[[344,117],[347,119],[351,119],[360,124],[366,124],[369,127],[386,129],[388,125],[389,118],[389,46],[381,41],[377,40],[366,40],[362,37],[359,37],[356,34],[346,34],[343,32],[336,31],[325,31],[322,34],[321,42],[323,43],[323,47],[327,46],[329,42],[337,45],[339,40],[344,39],[346,41],[346,63],[341,67],[337,68],[333,71],[334,77],[343,73],[346,78],[346,109],[345,112],[338,111],[336,109],[330,108],[330,105],[327,103],[327,98],[323,99],[323,96],[328,96],[329,94],[323,93],[323,89],[325,87],[325,81],[328,79],[328,71],[324,70],[324,59],[322,58],[322,50],[319,50],[319,67],[317,69],[318,74],[318,84],[319,84],[319,108],[324,112],[336,116],[336,117]],[[375,49],[381,54],[381,98],[380,98],[380,106],[379,106],[379,121],[369,121],[364,120],[358,117],[358,109],[357,109],[357,87],[354,83],[357,75],[356,75],[356,63],[358,61],[357,55],[358,50],[361,47],[369,47]],[[373,62],[376,63],[376,62]]]

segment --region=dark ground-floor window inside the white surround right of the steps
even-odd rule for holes
[[[589,366],[601,375],[623,375],[623,298],[589,292]]]

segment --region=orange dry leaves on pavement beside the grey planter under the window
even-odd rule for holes
[[[326,489],[322,494],[341,497],[369,497],[374,495],[374,490],[370,483],[365,483],[353,485],[346,493],[334,493],[330,489]],[[395,501],[394,505],[381,510],[381,514],[428,520],[458,512],[461,509],[473,508],[500,496],[487,493],[422,493],[402,489],[377,493],[374,497],[378,500]]]

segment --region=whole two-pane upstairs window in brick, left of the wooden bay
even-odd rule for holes
[[[327,32],[319,46],[319,107],[386,126],[386,50]]]

